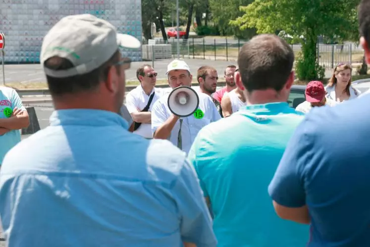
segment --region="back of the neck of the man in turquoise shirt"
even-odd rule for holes
[[[247,97],[248,104],[267,104],[286,101],[282,95],[272,89],[253,91]]]

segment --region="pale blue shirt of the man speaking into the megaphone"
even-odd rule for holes
[[[168,108],[167,99],[169,94],[162,96],[153,106],[152,110],[152,132],[154,132],[161,126],[171,115],[172,112]],[[214,105],[210,96],[198,93],[199,96],[199,106],[198,109],[202,110],[204,116],[202,118],[196,118],[193,115],[184,117],[182,127],[181,127],[181,137],[182,137],[182,150],[186,153],[189,151],[192,143],[198,132],[206,125],[211,122],[215,122],[221,119],[216,106]],[[180,121],[177,120],[175,126],[171,131],[169,141],[177,146],[178,143],[178,133],[180,130]]]

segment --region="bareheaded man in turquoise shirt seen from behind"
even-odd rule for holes
[[[275,35],[246,43],[235,80],[248,105],[203,128],[189,152],[214,215],[218,247],[303,247],[309,240],[309,227],[277,217],[267,193],[303,118],[287,103],[293,61],[293,50]]]

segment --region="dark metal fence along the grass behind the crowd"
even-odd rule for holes
[[[182,58],[236,61],[240,48],[246,41],[230,38],[190,38],[179,40],[179,54]],[[177,56],[177,40],[156,40],[156,44],[170,45],[168,53]],[[291,45],[297,55],[301,52],[301,44]],[[334,68],[338,62],[361,63],[364,50],[355,43],[342,45],[317,44],[317,61],[325,68]],[[155,56],[156,58],[161,58]]]

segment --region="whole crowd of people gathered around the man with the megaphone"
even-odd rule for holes
[[[370,63],[370,0],[359,6]],[[169,92],[191,87],[185,61],[156,88],[148,64],[125,98],[140,48],[90,14],[62,18],[41,63],[55,110],[20,141],[27,110],[1,88],[0,220],[9,247],[369,247],[370,96],[339,63],[290,107],[294,53],[257,35],[237,65],[197,71],[198,114],[179,117]],[[319,107],[318,107],[319,106]],[[199,114],[201,112],[202,114]]]

